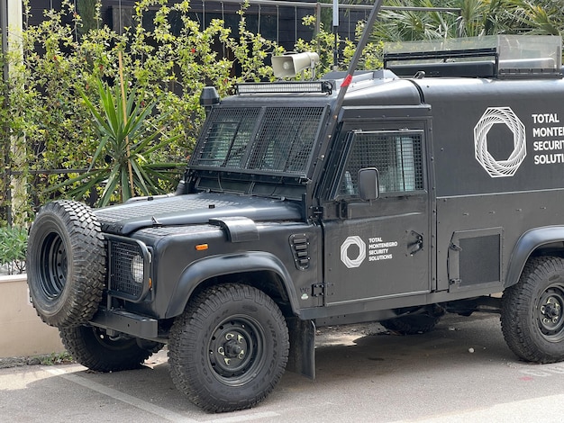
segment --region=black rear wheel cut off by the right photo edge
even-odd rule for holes
[[[507,346],[525,361],[564,359],[564,259],[527,262],[519,282],[505,289],[501,328]]]

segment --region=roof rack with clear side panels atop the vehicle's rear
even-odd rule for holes
[[[558,36],[493,35],[407,41],[385,46],[384,67],[397,76],[560,78]]]

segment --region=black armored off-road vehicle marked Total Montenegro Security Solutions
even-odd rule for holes
[[[564,359],[560,42],[405,43],[377,71],[207,88],[176,193],[41,208],[34,307],[97,371],[168,344],[211,411],[253,406],[286,368],[313,377],[327,325],[493,311],[516,356]]]

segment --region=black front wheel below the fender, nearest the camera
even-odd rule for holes
[[[284,373],[286,320],[265,293],[224,284],[200,293],[170,330],[168,364],[180,392],[204,410],[249,409]]]

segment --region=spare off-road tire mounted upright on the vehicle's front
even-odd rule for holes
[[[105,285],[104,238],[92,210],[73,201],[42,207],[30,230],[26,266],[41,320],[59,328],[91,320]]]

